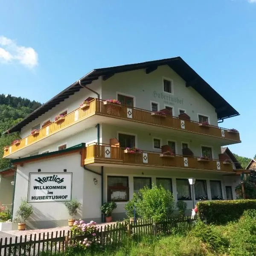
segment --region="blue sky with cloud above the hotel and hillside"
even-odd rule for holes
[[[256,0],[0,0],[0,36],[0,93],[39,102],[93,68],[181,56],[241,114],[221,124],[231,150],[256,154]]]

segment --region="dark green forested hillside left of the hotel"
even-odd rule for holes
[[[9,165],[9,160],[2,158],[3,147],[20,138],[19,133],[3,134],[3,132],[40,106],[41,103],[34,100],[0,94],[0,169]]]

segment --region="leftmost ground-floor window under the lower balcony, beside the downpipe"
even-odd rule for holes
[[[128,177],[108,176],[108,201],[128,201]]]

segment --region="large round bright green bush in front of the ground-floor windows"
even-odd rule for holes
[[[140,189],[140,195],[136,207],[142,218],[152,218],[153,221],[159,222],[172,214],[174,198],[169,190],[152,185],[151,189]]]

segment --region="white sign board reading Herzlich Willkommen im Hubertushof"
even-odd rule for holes
[[[29,173],[28,202],[70,201],[72,173]]]

